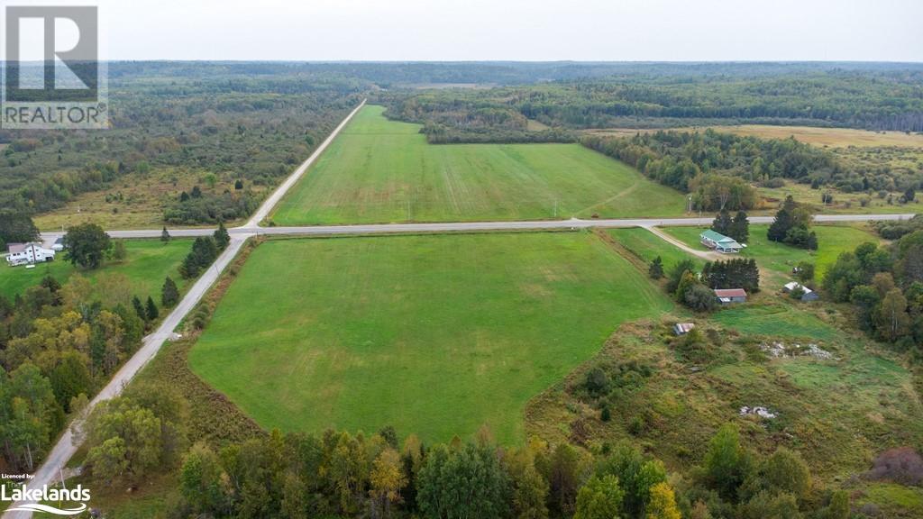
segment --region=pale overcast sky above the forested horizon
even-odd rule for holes
[[[95,3],[110,59],[923,61],[923,0]]]

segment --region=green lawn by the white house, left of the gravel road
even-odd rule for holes
[[[87,277],[94,284],[105,276],[123,275],[135,294],[142,299],[153,296],[155,301],[160,301],[166,276],[173,277],[181,291],[186,288],[186,281],[179,275],[178,269],[192,247],[191,240],[174,239],[167,244],[160,240],[126,240],[125,245],[128,252],[125,261],[108,263],[95,271],[83,271],[71,265],[64,259],[64,253],[59,253],[57,260],[41,263],[34,269],[4,265],[0,267],[0,295],[12,298],[22,294],[30,286],[41,283],[47,274],[62,284],[75,273]]]

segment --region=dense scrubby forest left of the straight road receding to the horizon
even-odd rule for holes
[[[140,66],[139,66],[140,67]],[[234,190],[207,191],[164,208],[169,223],[215,223],[258,204],[252,186],[274,186],[361,100],[367,84],[331,76],[201,78],[129,75],[113,66],[111,128],[90,132],[0,131],[0,206],[39,213],[124,175],[185,171]],[[134,68],[129,66],[129,68]],[[203,66],[203,68],[210,68]],[[173,70],[173,69],[169,69]],[[186,68],[181,68],[185,72]]]

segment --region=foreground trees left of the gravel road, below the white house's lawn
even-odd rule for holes
[[[162,240],[171,238],[164,233]],[[198,237],[181,272],[195,278],[227,247],[227,231]],[[63,256],[81,268],[65,284],[52,275],[12,300],[0,295],[0,467],[33,471],[66,423],[141,346],[180,298],[174,280],[140,296],[125,276],[88,276],[126,259],[122,241],[84,223],[65,235]],[[146,296],[146,304],[142,297]],[[154,297],[161,301],[159,307]],[[194,323],[197,317],[193,316]]]

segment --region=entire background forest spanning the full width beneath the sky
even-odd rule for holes
[[[119,62],[109,75],[111,129],[0,130],[0,207],[34,215],[126,175],[166,175],[165,223],[241,218],[366,95],[391,118],[422,124],[434,143],[573,142],[591,127],[716,122],[923,130],[923,66],[914,64]],[[446,88],[459,86],[477,88]],[[881,167],[843,171],[795,143],[769,151],[696,139],[724,153],[722,163],[707,157],[711,169],[737,167],[731,153],[757,147],[797,155],[796,166],[776,163],[785,177],[852,190],[895,184]],[[183,196],[183,178],[210,188]]]

